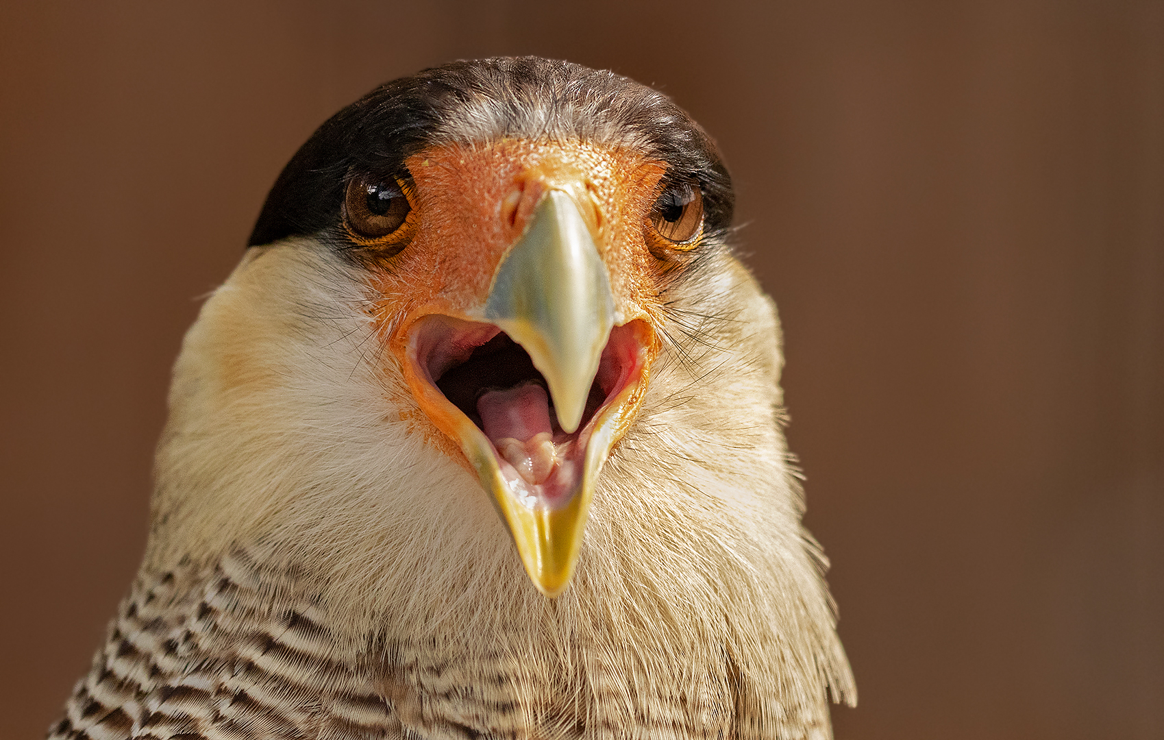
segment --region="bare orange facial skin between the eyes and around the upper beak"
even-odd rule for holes
[[[369,266],[382,296],[374,316],[417,400],[427,407],[414,417],[421,428],[431,431],[435,424],[455,439],[466,432],[459,427],[471,422],[460,414],[432,418],[445,404],[427,379],[412,377],[410,328],[428,314],[482,320],[497,266],[547,188],[569,194],[590,227],[609,270],[616,323],[655,323],[661,268],[647,248],[644,223],[666,171],[662,163],[577,141],[501,140],[431,147],[405,164],[413,180],[416,235],[399,254],[374,258]],[[443,435],[427,436],[447,453],[456,448],[448,437],[436,439]]]

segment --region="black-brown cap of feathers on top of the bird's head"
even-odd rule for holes
[[[708,226],[733,194],[711,137],[662,93],[613,72],[540,57],[453,62],[381,85],[328,119],[283,169],[248,246],[335,227],[353,172],[404,175],[428,145],[503,136],[625,145],[703,190]]]

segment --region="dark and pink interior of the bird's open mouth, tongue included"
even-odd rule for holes
[[[567,434],[546,379],[525,349],[498,327],[433,315],[421,319],[416,337],[419,369],[485,435],[511,491],[549,506],[568,501],[580,489],[596,420],[643,367],[636,332],[630,325],[615,327],[582,422]]]

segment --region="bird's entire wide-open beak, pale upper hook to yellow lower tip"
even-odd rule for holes
[[[650,323],[616,326],[615,306],[590,227],[549,188],[480,316],[427,313],[405,329],[413,394],[457,442],[546,596],[569,583],[598,471],[658,351]]]

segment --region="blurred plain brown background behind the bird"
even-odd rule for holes
[[[328,115],[442,61],[654,84],[787,332],[842,739],[1164,738],[1164,3],[5,3],[0,738],[141,556],[169,365]]]

